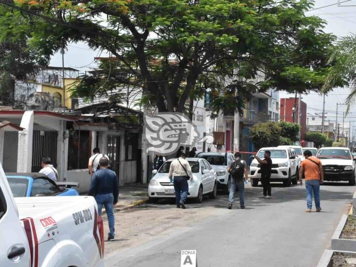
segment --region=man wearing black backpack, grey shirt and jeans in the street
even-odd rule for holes
[[[231,187],[228,209],[231,210],[232,208],[236,186],[238,187],[240,194],[240,208],[245,209],[245,179],[247,180],[249,177],[247,174],[246,162],[244,160],[241,160],[240,152],[235,153],[235,160],[231,160],[228,167],[228,172],[231,174]]]

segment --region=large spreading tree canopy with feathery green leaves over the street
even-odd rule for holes
[[[318,90],[334,40],[304,15],[310,0],[14,1],[22,11],[0,19],[3,36],[29,33],[43,54],[77,41],[109,53],[74,93],[120,101],[129,87],[160,111],[184,112],[207,90],[215,112],[269,88]]]

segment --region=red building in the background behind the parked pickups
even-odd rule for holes
[[[301,140],[303,140],[306,133],[306,103],[301,100],[301,107],[298,103],[298,98],[281,98],[280,121],[298,123],[299,113],[301,113]]]

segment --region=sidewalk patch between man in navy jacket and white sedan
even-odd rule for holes
[[[148,184],[132,183],[119,187],[118,203],[114,210],[126,210],[148,201]],[[104,210],[103,210],[104,211]]]

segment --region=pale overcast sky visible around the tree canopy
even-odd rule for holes
[[[340,0],[340,2],[345,0]],[[352,33],[356,33],[356,0],[349,0],[341,3],[341,6],[332,5],[338,3],[338,0],[315,0],[314,8],[316,10],[308,11],[307,15],[316,15],[327,21],[324,32],[332,33],[335,36],[342,37]],[[324,7],[332,5],[329,7]],[[345,6],[353,5],[353,6]],[[321,8],[320,8],[321,7]],[[66,67],[79,69],[82,72],[95,68],[96,63],[94,57],[107,56],[105,52],[92,51],[84,43],[72,43],[68,47],[68,51],[64,55],[64,62]],[[57,53],[51,60],[51,66],[62,66],[62,56]],[[330,92],[325,97],[325,120],[335,121],[336,119],[336,104],[345,103],[349,89],[338,88]],[[280,93],[280,97],[294,97],[294,94]],[[316,112],[322,112],[322,96],[318,93],[312,92],[307,95],[302,95],[302,100],[307,104],[307,116]],[[342,118],[342,112],[346,110],[345,105],[338,106],[338,118]],[[345,122],[351,122],[356,128],[356,105],[351,108],[351,112],[345,118]]]

